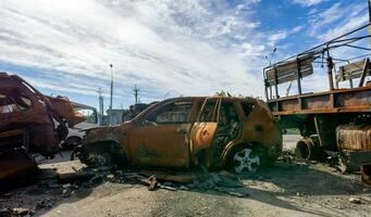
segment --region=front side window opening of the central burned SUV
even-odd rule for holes
[[[149,113],[141,125],[186,124],[189,122],[191,102],[173,102]]]

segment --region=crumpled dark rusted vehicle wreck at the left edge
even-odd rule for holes
[[[29,153],[52,157],[67,126],[83,120],[66,98],[46,97],[21,77],[0,73],[0,180],[35,170]]]

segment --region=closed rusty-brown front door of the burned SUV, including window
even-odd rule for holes
[[[139,166],[188,166],[193,105],[187,100],[173,101],[147,113],[131,135],[133,163]]]

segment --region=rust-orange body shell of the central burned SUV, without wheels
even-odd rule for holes
[[[203,115],[200,111],[207,99],[210,99],[211,104]],[[182,112],[182,106],[164,112],[168,111],[168,105],[175,107],[190,102],[193,105],[188,106],[187,112]],[[221,111],[224,102],[231,106],[228,108],[235,111],[235,116],[228,117],[232,118],[230,120],[221,115],[227,111]],[[247,117],[240,102],[253,104]],[[182,118],[184,114],[187,114],[185,119]],[[169,122],[163,122],[164,119]],[[215,132],[220,136],[218,141],[225,143],[217,145]],[[227,150],[234,145],[257,141],[268,148],[272,157],[282,151],[282,133],[273,114],[263,101],[252,98],[197,97],[158,102],[131,122],[90,130],[84,140],[83,150],[88,152],[94,145],[103,145],[110,141],[120,144],[131,166],[145,167],[189,167],[198,163],[200,151],[206,153],[202,162],[212,166],[210,163],[220,164],[226,161],[222,154],[227,154]]]

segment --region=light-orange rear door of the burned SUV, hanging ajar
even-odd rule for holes
[[[190,152],[195,157],[201,150],[212,144],[213,137],[218,129],[221,99],[208,98],[205,100],[190,132]]]

